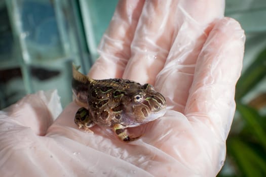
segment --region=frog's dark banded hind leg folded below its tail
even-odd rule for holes
[[[93,131],[90,130],[90,127],[92,127],[95,123],[91,120],[88,109],[80,108],[75,114],[74,122],[80,129],[93,133]]]

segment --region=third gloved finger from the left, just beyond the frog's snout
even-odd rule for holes
[[[221,7],[224,7],[224,1],[220,0],[195,1],[193,6],[188,7],[186,3],[179,6],[180,16],[185,18],[185,21],[175,37],[164,69],[156,80],[156,89],[167,96],[168,105],[174,106],[174,110],[182,113],[193,81],[198,55],[213,27],[213,21],[223,16]]]

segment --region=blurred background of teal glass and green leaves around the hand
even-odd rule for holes
[[[88,72],[117,0],[0,0],[0,109],[57,89],[72,99],[71,63]],[[237,111],[218,176],[266,176],[266,1],[228,0],[246,33]]]

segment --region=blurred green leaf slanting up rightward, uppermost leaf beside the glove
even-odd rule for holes
[[[241,99],[266,75],[266,49],[264,49],[254,62],[240,77],[236,86],[236,99]]]

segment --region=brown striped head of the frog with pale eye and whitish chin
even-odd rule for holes
[[[123,117],[130,117],[130,120],[136,124],[153,121],[162,117],[166,112],[164,96],[156,92],[154,87],[148,83],[141,85],[138,90],[128,92],[128,98],[125,98],[130,101],[124,107],[127,109],[124,113],[128,115]]]

